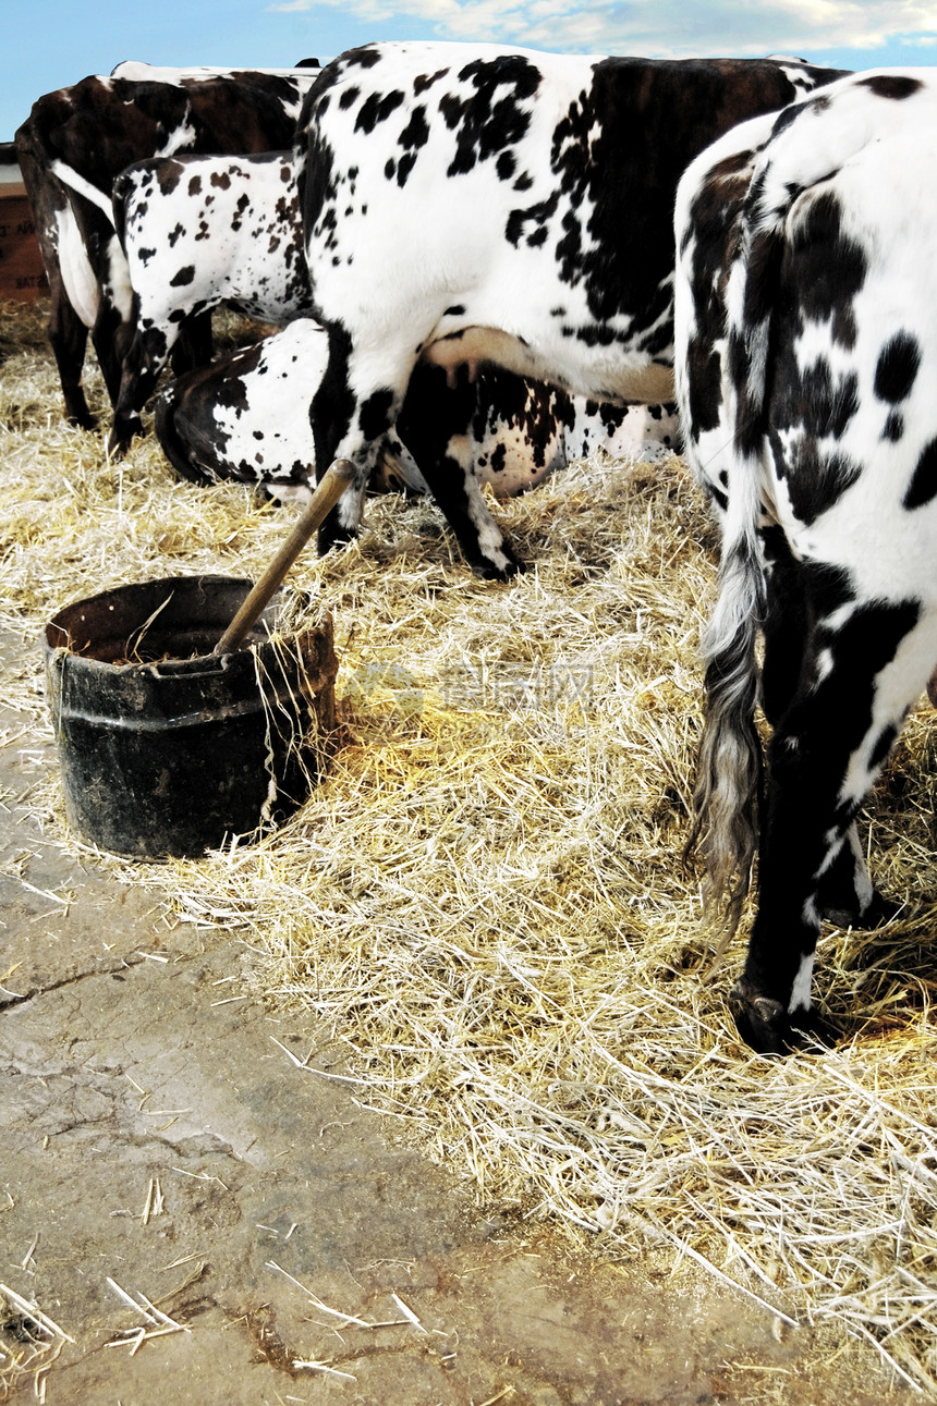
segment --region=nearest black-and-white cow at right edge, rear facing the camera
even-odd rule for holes
[[[937,658],[931,170],[933,70],[868,70],[740,127],[677,197],[678,404],[723,536],[696,835],[733,922],[758,858],[732,1001],[765,1053],[819,1024],[822,918],[888,914],[854,821]]]

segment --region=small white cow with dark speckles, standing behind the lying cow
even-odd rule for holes
[[[120,453],[190,318],[228,302],[279,326],[308,314],[311,295],[291,152],[136,162],[114,181],[114,222],[135,328],[110,441]]]

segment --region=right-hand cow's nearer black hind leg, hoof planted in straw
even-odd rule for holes
[[[768,749],[758,911],[732,994],[739,1031],[761,1053],[782,1053],[798,1031],[817,1026],[810,984],[822,882],[936,651],[937,616],[916,600],[847,606],[813,630],[812,669]]]

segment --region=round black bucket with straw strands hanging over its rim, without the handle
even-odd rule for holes
[[[211,651],[250,591],[177,576],[107,591],[45,628],[46,696],[69,824],[134,859],[203,855],[291,814],[336,738],[332,621]]]

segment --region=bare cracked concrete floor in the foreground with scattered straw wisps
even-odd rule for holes
[[[0,634],[0,668],[38,678],[38,645]],[[25,721],[0,704],[0,1284],[72,1341],[31,1361],[48,1337],[7,1301],[8,1399],[912,1399],[858,1344],[779,1340],[685,1267],[605,1264],[478,1208],[356,1101],[321,1029],[264,1010],[235,938],[173,931],[156,894],[41,834],[55,761]],[[134,1350],[146,1319],[121,1291],[155,1306],[151,1333],[180,1327]]]

